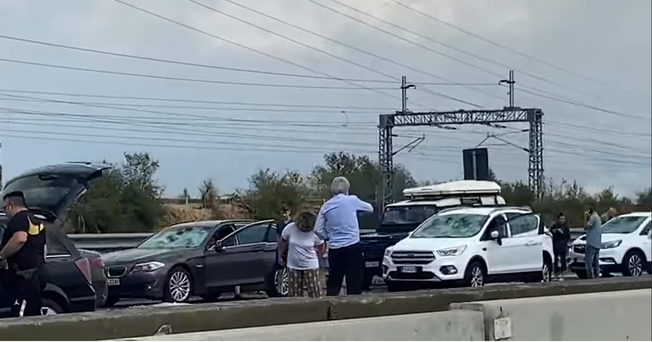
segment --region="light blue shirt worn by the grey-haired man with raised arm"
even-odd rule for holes
[[[374,212],[374,207],[355,195],[334,195],[319,209],[315,232],[338,249],[360,242],[358,212]]]

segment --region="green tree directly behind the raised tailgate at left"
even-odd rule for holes
[[[106,162],[105,162],[106,163]],[[72,233],[133,233],[152,231],[164,214],[163,188],[155,173],[158,161],[145,152],[125,154],[70,210]]]

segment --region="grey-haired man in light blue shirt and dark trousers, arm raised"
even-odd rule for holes
[[[349,180],[335,177],[331,184],[333,197],[319,209],[315,231],[329,243],[329,278],[327,295],[337,296],[346,276],[347,294],[362,293],[364,255],[360,246],[358,212],[374,212],[374,207],[349,195]]]

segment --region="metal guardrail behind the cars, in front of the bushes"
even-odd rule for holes
[[[368,229],[361,229],[361,233],[371,233]],[[571,229],[571,241],[584,234],[582,228]],[[88,249],[98,253],[109,253],[123,249],[134,248],[152,233],[125,233],[125,234],[70,234],[68,235],[77,248]]]

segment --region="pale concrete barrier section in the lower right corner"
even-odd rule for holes
[[[486,341],[651,341],[652,290],[451,304],[484,315]]]

